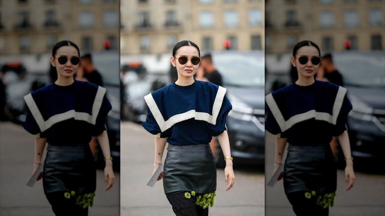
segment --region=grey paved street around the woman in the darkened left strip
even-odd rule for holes
[[[52,216],[45,198],[42,181],[26,186],[34,162],[34,137],[20,125],[0,122],[0,215]],[[119,216],[120,176],[115,172],[115,185],[104,191],[103,171],[97,171],[94,206],[89,216]]]

